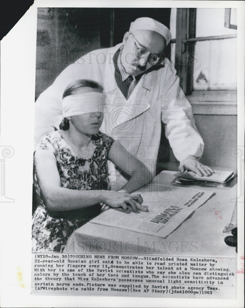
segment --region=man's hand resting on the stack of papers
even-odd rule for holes
[[[194,159],[185,159],[180,163],[179,171],[183,173],[185,170],[195,172],[199,176],[210,176],[214,173],[211,168]]]

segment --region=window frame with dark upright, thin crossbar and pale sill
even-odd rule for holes
[[[196,8],[177,8],[175,69],[180,85],[192,104],[194,114],[237,114],[237,91],[234,90],[195,90],[193,88],[194,64],[190,54],[195,51],[198,41],[236,38],[237,34],[196,37]]]

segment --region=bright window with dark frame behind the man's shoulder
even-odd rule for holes
[[[198,101],[198,97],[202,102],[210,103],[216,96],[214,100],[230,103],[232,112],[236,112],[235,24],[236,9],[172,9],[171,61],[175,64],[183,91],[191,95],[188,97],[191,103]],[[219,94],[214,91],[219,91]],[[226,114],[227,110],[222,112]]]

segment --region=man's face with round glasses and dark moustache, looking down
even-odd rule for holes
[[[126,32],[123,38],[122,66],[132,76],[137,76],[155,65],[154,59],[166,47],[165,39],[151,30]]]

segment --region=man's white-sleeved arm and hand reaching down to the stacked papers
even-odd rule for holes
[[[169,60],[166,60],[165,65],[167,72],[163,85],[161,112],[166,138],[174,156],[180,161],[181,172],[191,170],[199,175],[209,175],[212,169],[199,166],[204,142],[195,126],[191,105],[179,85],[179,78],[173,65]]]

